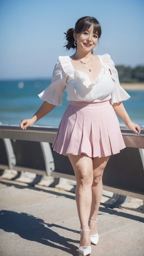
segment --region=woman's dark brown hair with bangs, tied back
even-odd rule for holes
[[[91,25],[93,25],[93,33],[95,34],[96,32],[98,32],[98,43],[99,43],[99,39],[101,36],[101,26],[100,23],[98,22],[98,20],[94,17],[90,17],[90,16],[85,16],[82,17],[80,19],[77,20],[76,24],[75,24],[75,28],[69,28],[67,30],[66,33],[64,33],[66,36],[66,40],[68,41],[67,45],[64,45],[63,47],[66,47],[66,50],[70,50],[71,48],[75,49],[77,48],[77,45],[74,45],[74,37],[73,37],[73,33],[74,31],[76,33],[83,33],[86,30],[88,30]]]

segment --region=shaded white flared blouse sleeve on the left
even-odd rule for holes
[[[62,106],[62,97],[66,86],[66,73],[63,71],[61,63],[58,58],[53,74],[51,84],[38,96],[53,105]]]

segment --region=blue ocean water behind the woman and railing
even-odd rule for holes
[[[50,83],[51,79],[0,81],[0,123],[19,125],[22,119],[31,118],[43,103],[38,94]],[[131,98],[123,101],[123,105],[130,119],[139,125],[144,125],[144,91],[127,90],[127,92]],[[62,115],[69,105],[66,97],[67,92],[65,91],[63,105],[56,106],[34,125],[58,127]],[[120,125],[125,125],[119,117],[118,120]]]

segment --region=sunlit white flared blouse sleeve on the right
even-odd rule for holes
[[[114,62],[111,58],[110,58],[109,68],[110,68],[111,73],[112,73],[111,78],[114,82],[114,89],[111,92],[111,104],[113,104],[115,102],[118,103],[120,101],[129,99],[130,95],[120,85],[118,72],[117,72],[117,69],[115,68],[115,64],[114,64]]]

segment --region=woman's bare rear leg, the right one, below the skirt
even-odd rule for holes
[[[110,156],[106,157],[94,157],[93,158],[93,184],[92,184],[92,204],[90,212],[90,220],[96,220],[100,201],[102,198],[103,184],[102,176],[104,168],[108,162]],[[91,235],[97,233],[97,222],[89,222],[89,227],[91,230]]]

